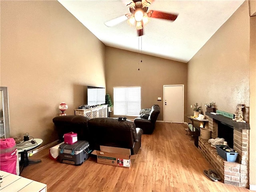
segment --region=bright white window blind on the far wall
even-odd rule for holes
[[[114,87],[114,115],[138,116],[140,87]]]

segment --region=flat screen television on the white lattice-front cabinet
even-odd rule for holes
[[[87,105],[105,104],[106,88],[87,86]]]

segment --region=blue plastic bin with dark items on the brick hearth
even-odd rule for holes
[[[238,152],[226,145],[216,145],[218,155],[228,162],[236,162]]]

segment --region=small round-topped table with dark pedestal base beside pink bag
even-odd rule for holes
[[[32,143],[34,142],[34,143]],[[18,153],[20,154],[20,173],[23,168],[28,166],[29,164],[36,164],[42,162],[41,160],[29,160],[28,159],[28,151],[31,151],[37,148],[43,142],[42,139],[30,139],[28,141],[23,141],[20,144],[16,145]]]

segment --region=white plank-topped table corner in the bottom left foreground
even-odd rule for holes
[[[0,171],[2,180],[0,192],[46,192],[47,185],[14,175],[5,171]]]

